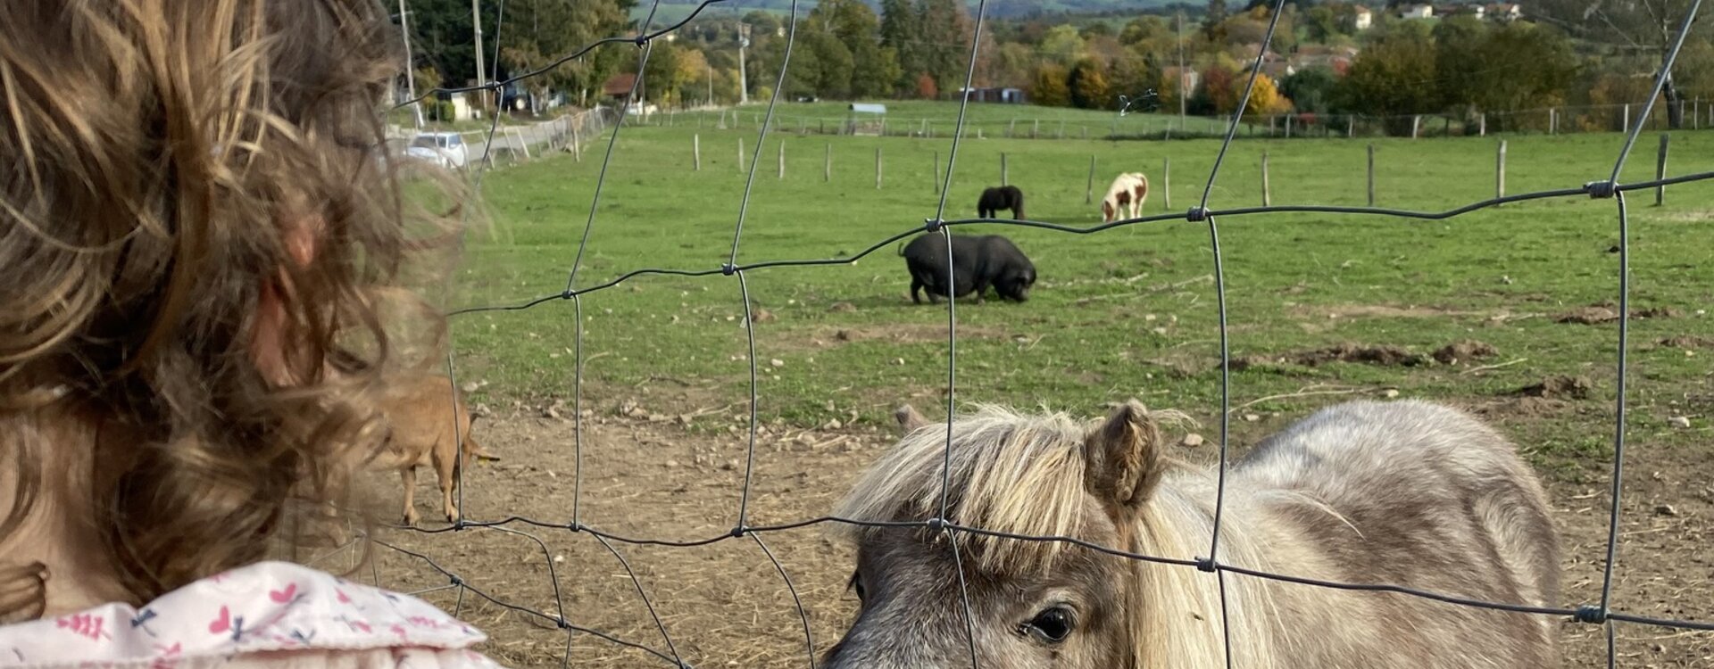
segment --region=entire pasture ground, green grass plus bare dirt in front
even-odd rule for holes
[[[809,104],[812,106],[812,104]],[[1010,110],[974,106],[972,120],[1004,123]],[[955,106],[902,106],[950,127]],[[751,111],[746,110],[747,116]],[[451,306],[521,305],[452,318],[459,382],[494,417],[478,428],[504,455],[471,467],[473,518],[578,518],[631,537],[703,539],[730,532],[740,500],[751,525],[828,513],[850,479],[890,441],[888,412],[902,400],[943,411],[948,311],[912,305],[895,245],[938,214],[936,159],[950,140],[912,137],[800,137],[770,133],[737,245],[737,263],[828,260],[814,267],[742,272],[754,323],[756,392],[763,421],[747,438],[749,344],[740,281],[722,275],[734,253],[752,123],[716,130],[704,118],[674,127],[626,127],[605,168],[574,286],[603,286],[631,272],[668,269],[703,275],[636,274],[579,301],[559,299],[579,253],[605,144],[583,161],[538,157],[488,173],[483,204],[492,224],[468,236]],[[730,120],[730,116],[728,116]],[[1106,118],[1111,123],[1111,116]],[[790,125],[782,123],[790,128]],[[701,171],[692,169],[692,137]],[[1671,175],[1714,169],[1709,133],[1673,135]],[[1577,188],[1606,178],[1618,135],[1508,137],[1510,193]],[[746,163],[737,164],[739,144]],[[778,151],[785,144],[785,178]],[[1623,181],[1652,178],[1657,135],[1644,135]],[[1215,210],[1262,200],[1268,152],[1275,205],[1363,205],[1369,140],[1239,140],[1210,195]],[[1498,139],[1375,140],[1376,204],[1447,210],[1495,193]],[[1004,140],[987,133],[960,145],[944,219],[970,217],[977,193],[999,183],[1008,154],[1011,183],[1032,219],[1071,228],[1099,222],[1087,205],[1088,163],[1095,193],[1118,171],[1145,171],[1147,210],[1178,219],[1073,234],[1001,224],[960,224],[955,233],[998,231],[1035,260],[1042,282],[1025,305],[956,305],[960,402],[1047,404],[1094,416],[1104,402],[1138,397],[1203,423],[1215,441],[1219,327],[1208,226],[1183,212],[1198,204],[1219,152],[1215,140],[1102,142]],[[876,188],[874,161],[884,171]],[[938,154],[938,157],[936,157]],[[831,156],[831,178],[823,161]],[[1171,159],[1171,188],[1162,175]],[[1172,205],[1166,205],[1171,193]],[[1615,607],[1627,613],[1714,619],[1707,546],[1714,530],[1714,185],[1685,183],[1654,207],[1651,192],[1627,195],[1633,310],[1628,443],[1621,551]],[[1354,397],[1429,397],[1476,409],[1513,438],[1548,474],[1561,530],[1561,602],[1601,597],[1616,392],[1616,323],[1560,322],[1594,315],[1618,294],[1618,202],[1565,197],[1508,204],[1447,221],[1354,214],[1220,216],[1227,282],[1232,445],[1318,406]],[[857,257],[871,250],[872,253]],[[840,262],[854,260],[854,262]],[[583,407],[567,419],[574,390],[572,346],[583,327]],[[1599,318],[1596,318],[1599,320]],[[1479,340],[1491,356],[1387,364],[1311,359],[1337,346],[1388,347],[1426,356]],[[1284,361],[1280,361],[1284,359]],[[1308,364],[1318,363],[1318,364]],[[1584,387],[1548,397],[1519,390],[1556,376]],[[543,407],[559,407],[543,411]],[[639,407],[614,416],[622,407]],[[560,416],[560,417],[554,417]],[[656,419],[662,417],[662,419]],[[680,417],[680,419],[674,419]],[[682,419],[689,417],[689,419]],[[1676,428],[1673,417],[1688,417]],[[840,421],[833,426],[831,421]],[[1178,448],[1210,462],[1214,448]],[[754,455],[754,471],[749,457]],[[572,476],[571,472],[576,472]],[[393,477],[387,477],[389,484]],[[422,483],[427,486],[427,481]],[[742,491],[742,498],[740,498]],[[435,494],[420,494],[430,512]],[[531,534],[516,534],[528,530]],[[814,645],[824,650],[850,623],[852,556],[824,525],[768,534],[778,570],[802,597]],[[509,530],[401,532],[500,601],[567,611],[576,625],[651,647],[677,643],[692,666],[800,667],[806,643],[794,597],[773,561],[746,539],[696,548],[626,544],[620,565],[583,532],[512,524]],[[564,558],[564,561],[560,561]],[[560,565],[557,577],[552,565]],[[375,582],[427,592],[490,633],[485,652],[509,666],[646,667],[658,657],[490,606],[415,558],[382,553]],[[644,607],[639,592],[648,592]],[[656,618],[658,613],[658,618]],[[1709,635],[1652,626],[1616,628],[1620,657],[1635,666],[1705,667]],[[1599,626],[1563,623],[1565,666],[1606,666]],[[569,662],[567,662],[569,660]]]

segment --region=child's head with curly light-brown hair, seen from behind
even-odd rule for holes
[[[84,577],[41,518],[146,601],[341,493],[423,246],[396,43],[379,0],[0,3],[0,616]]]

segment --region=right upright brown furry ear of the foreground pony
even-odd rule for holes
[[[1083,436],[1088,469],[1083,486],[1095,498],[1119,508],[1142,505],[1160,483],[1160,428],[1138,400],[1114,407],[1107,419]]]

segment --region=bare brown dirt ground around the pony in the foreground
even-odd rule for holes
[[[1524,400],[1565,406],[1539,397],[1510,402]],[[658,412],[677,416],[679,409],[662,406]],[[742,416],[735,414],[740,412],[699,416],[686,426],[596,412],[584,421],[581,455],[574,448],[572,424],[566,419],[538,412],[485,419],[480,428],[483,443],[504,460],[468,472],[466,513],[475,520],[521,517],[540,525],[514,520],[500,529],[393,530],[386,539],[434,559],[473,589],[509,606],[564,614],[579,628],[644,645],[667,657],[682,657],[689,666],[802,667],[804,618],[792,594],[795,590],[802,601],[819,654],[838,640],[855,611],[855,597],[845,589],[850,551],[835,541],[831,525],[768,530],[759,534],[761,542],[758,536],[734,537],[739,510],[744,508],[746,527],[826,515],[862,467],[891,443],[891,433],[848,426],[833,431],[763,426],[746,496],[747,431],[742,429]],[[1508,435],[1519,435],[1513,438],[1525,448],[1527,436],[1543,421],[1541,416],[1512,411],[1484,414]],[[1572,416],[1589,421],[1591,431],[1604,426],[1599,416]],[[1294,417],[1244,423],[1234,435],[1234,447],[1241,452]],[[1563,421],[1565,412],[1551,419]],[[1212,448],[1183,452],[1191,459],[1212,453]],[[1714,599],[1705,595],[1714,577],[1714,554],[1707,551],[1714,541],[1714,462],[1697,453],[1693,448],[1656,447],[1647,435],[1633,438],[1621,505],[1625,544],[1615,607],[1656,618],[1714,619]],[[1601,467],[1592,464],[1594,474],[1584,483],[1549,479],[1563,536],[1561,599],[1572,606],[1599,599],[1608,522]],[[384,494],[398,494],[396,477],[381,476],[377,481]],[[430,484],[423,486],[427,491]],[[432,517],[428,506],[435,498],[418,494],[425,517]],[[571,527],[595,527],[614,537],[603,544],[591,532]],[[615,537],[684,546],[636,544]],[[377,558],[379,568],[357,577],[422,592],[423,599],[456,609],[492,636],[482,650],[507,666],[557,667],[566,657],[567,638],[567,664],[572,667],[670,666],[593,633],[572,631],[567,636],[567,630],[560,630],[552,618],[519,613],[475,592],[459,595],[458,589],[447,587],[444,573],[420,558],[387,549],[377,551]],[[324,566],[338,568],[341,559],[348,556],[329,556]],[[790,577],[792,589],[782,570]],[[1604,666],[1599,628],[1565,623],[1561,638],[1567,667]],[[1625,666],[1714,666],[1714,635],[1623,625],[1618,638]]]

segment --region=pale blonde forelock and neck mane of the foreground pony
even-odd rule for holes
[[[1150,412],[1157,423],[1190,423],[1184,414]],[[919,522],[941,508],[943,472],[946,520],[1003,534],[1080,537],[1085,513],[1085,436],[1092,423],[1063,412],[1020,414],[979,406],[953,421],[950,469],[946,424],[936,423],[905,435],[857,481],[836,517],[855,522]],[[1167,474],[1140,508],[1130,549],[1160,558],[1205,556],[1214,530],[1214,477],[1208,471],[1162,462]],[[1256,500],[1227,488],[1227,515],[1220,530],[1220,561],[1268,570],[1274,559],[1262,549],[1265,527],[1251,524]],[[850,541],[872,527],[840,525]],[[1075,544],[1016,541],[962,534],[960,542],[989,573],[1046,573]],[[1126,549],[1126,546],[1114,546]],[[1224,666],[1220,595],[1214,573],[1190,566],[1136,559],[1126,578],[1126,614],[1133,642],[1133,667]],[[1280,616],[1277,585],[1227,575],[1227,623],[1234,660],[1274,666],[1275,642],[1268,616]]]

